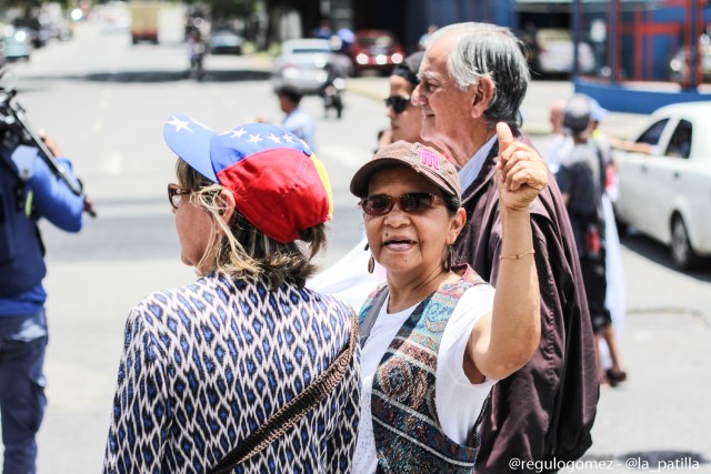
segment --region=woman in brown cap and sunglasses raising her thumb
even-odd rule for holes
[[[438,151],[398,141],[356,173],[371,265],[387,282],[360,314],[361,420],[353,473],[471,473],[481,413],[497,380],[540,339],[529,203],[545,163],[498,128],[501,268],[484,282],[454,260],[467,215],[459,175]]]

